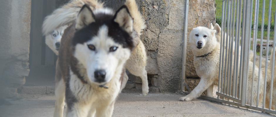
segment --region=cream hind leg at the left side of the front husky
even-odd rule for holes
[[[59,82],[55,85],[55,112],[54,117],[63,117],[63,110],[65,105],[65,83],[63,79],[60,79]]]

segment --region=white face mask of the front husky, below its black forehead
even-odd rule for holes
[[[74,56],[86,68],[89,81],[102,85],[112,79],[130,54],[131,50],[115,42],[108,35],[108,27],[103,25],[96,36],[75,46]]]

